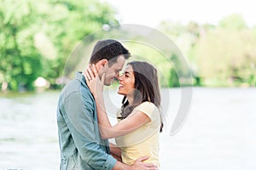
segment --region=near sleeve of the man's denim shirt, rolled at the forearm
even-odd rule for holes
[[[93,169],[111,170],[117,161],[102,150],[101,139],[96,137],[99,132],[93,118],[95,108],[91,98],[91,94],[82,96],[80,93],[68,96],[64,104],[69,122],[67,126],[82,159]]]

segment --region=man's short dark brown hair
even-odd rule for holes
[[[106,39],[98,41],[90,55],[90,64],[96,64],[99,60],[108,59],[108,65],[111,65],[116,62],[119,55],[124,55],[125,59],[128,59],[130,52],[116,40]]]

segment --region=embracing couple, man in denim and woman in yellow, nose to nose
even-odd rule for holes
[[[84,74],[63,88],[57,108],[60,169],[158,169],[160,88],[156,69],[132,61],[120,73],[129,51],[118,41],[96,42]],[[102,97],[103,85],[119,80],[124,95],[111,125]],[[108,139],[115,138],[115,144]]]

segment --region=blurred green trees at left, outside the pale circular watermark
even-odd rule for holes
[[[55,85],[73,47],[103,25],[118,24],[114,14],[97,0],[0,1],[0,85],[32,90],[39,76]]]

